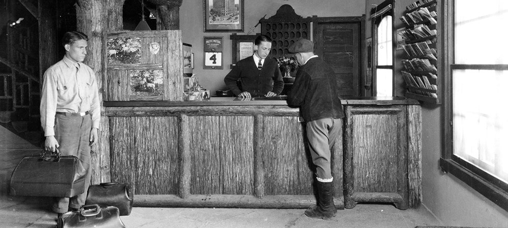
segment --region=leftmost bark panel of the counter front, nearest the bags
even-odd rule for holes
[[[111,117],[111,180],[135,194],[178,193],[176,117]]]

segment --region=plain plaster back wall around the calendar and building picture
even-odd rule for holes
[[[275,15],[280,6],[289,4],[295,9],[295,13],[302,17],[337,17],[337,16],[361,16],[365,11],[364,1],[347,0],[256,0],[245,2],[244,31],[238,35],[247,35],[265,14],[265,18]],[[180,7],[180,29],[184,43],[191,44],[194,52],[193,73],[198,75],[202,87],[209,89],[211,95],[215,95],[218,89],[227,89],[224,77],[231,71],[232,48],[231,32],[203,32],[203,1],[183,1]],[[261,32],[258,25],[250,35]],[[219,36],[224,42],[224,70],[203,70],[203,37]]]

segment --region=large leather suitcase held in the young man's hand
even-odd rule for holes
[[[11,175],[11,196],[74,197],[85,191],[86,170],[76,156],[25,156]]]

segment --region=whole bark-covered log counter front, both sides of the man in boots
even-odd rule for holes
[[[108,102],[110,175],[135,206],[307,208],[313,173],[285,101]],[[344,100],[332,152],[335,203],[420,203],[420,106]],[[346,151],[347,149],[347,151]],[[409,180],[409,181],[407,181]],[[344,199],[344,194],[346,199]]]

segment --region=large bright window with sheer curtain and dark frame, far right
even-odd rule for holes
[[[441,167],[508,210],[508,1],[454,2]]]

